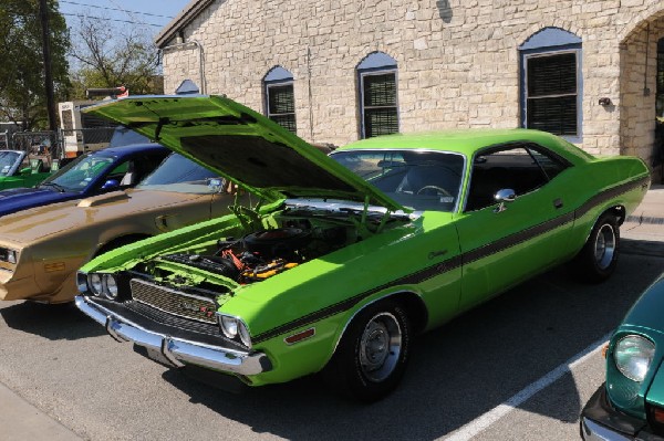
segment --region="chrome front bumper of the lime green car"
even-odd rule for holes
[[[272,369],[272,364],[262,353],[243,353],[218,346],[204,345],[155,333],[132,323],[105,307],[77,295],[76,307],[118,342],[133,342],[147,349],[151,358],[173,367],[196,365],[228,374],[257,375]]]

